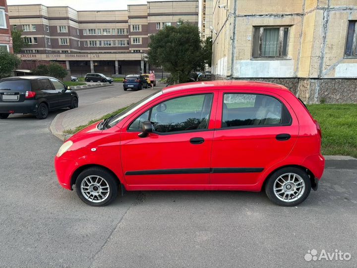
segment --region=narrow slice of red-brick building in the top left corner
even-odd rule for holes
[[[0,49],[13,52],[6,0],[0,0]]]

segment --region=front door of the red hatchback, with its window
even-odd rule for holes
[[[146,185],[146,189],[150,185],[161,185],[161,189],[207,185],[215,97],[211,92],[164,97],[129,119],[120,137],[126,182],[144,188]],[[139,137],[140,124],[146,120],[154,131]]]

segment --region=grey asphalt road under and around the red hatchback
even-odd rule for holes
[[[108,91],[107,91],[108,90]],[[79,91],[82,103],[115,90]],[[0,267],[356,267],[357,165],[331,161],[297,207],[264,193],[130,192],[91,207],[62,189],[51,120],[0,121]],[[349,261],[304,260],[308,250]]]

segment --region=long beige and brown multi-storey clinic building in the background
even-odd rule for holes
[[[74,75],[86,72],[147,72],[149,36],[179,19],[198,25],[198,0],[148,1],[127,10],[77,11],[68,6],[10,5],[13,29],[30,44],[24,61],[65,62]]]

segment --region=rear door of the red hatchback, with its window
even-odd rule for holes
[[[284,160],[297,140],[296,115],[278,95],[222,91],[217,111],[210,184],[256,184],[261,172]]]

